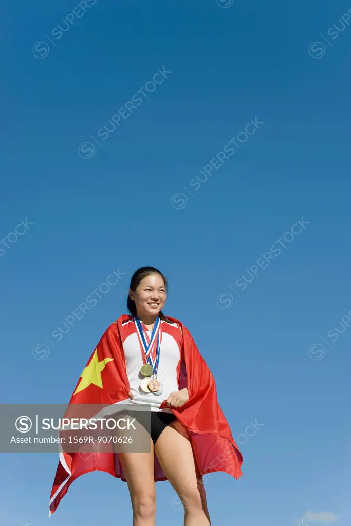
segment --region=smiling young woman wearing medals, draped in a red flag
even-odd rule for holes
[[[204,474],[241,476],[242,456],[218,405],[212,373],[182,322],[163,314],[167,288],[166,278],[154,267],[134,272],[127,301],[130,316],[121,316],[106,330],[71,399],[148,404],[150,451],[118,452],[113,459],[113,453],[85,459],[61,453],[51,513],[75,478],[97,469],[127,482],[133,526],[155,526],[155,481],[166,479],[184,505],[185,526],[208,526]],[[97,382],[96,364],[102,364]]]

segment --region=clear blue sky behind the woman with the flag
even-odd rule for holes
[[[238,481],[206,481],[214,525],[350,521],[350,7],[4,7],[2,402],[66,403],[134,270],[160,268],[244,457]],[[76,480],[48,519],[56,454],[0,466],[8,526],[131,523],[106,473]],[[157,484],[159,523],[183,523],[173,495]]]

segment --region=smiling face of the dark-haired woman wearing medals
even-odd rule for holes
[[[165,282],[159,274],[149,274],[141,280],[136,290],[129,289],[129,296],[135,301],[139,318],[157,317],[166,301]]]

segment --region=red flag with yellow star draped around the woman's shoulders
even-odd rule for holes
[[[178,368],[178,387],[186,386],[189,400],[182,408],[173,409],[175,417],[186,428],[192,443],[198,470],[203,476],[214,471],[225,471],[238,479],[243,461],[225,416],[217,401],[214,377],[187,328],[175,318],[183,332],[184,367]],[[129,400],[129,381],[121,338],[123,315],[105,331],[79,378],[69,406],[74,403],[114,404]],[[186,378],[186,382],[184,383]],[[69,407],[68,406],[68,407]],[[166,408],[166,401],[161,409]],[[89,452],[84,457],[78,452],[61,452],[49,503],[49,515],[54,513],[72,482],[84,473],[106,471],[126,481],[117,453]],[[155,455],[155,481],[167,480]]]

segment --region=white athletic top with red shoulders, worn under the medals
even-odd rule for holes
[[[143,365],[142,349],[137,336],[134,318],[122,324],[122,343],[126,360],[127,376],[131,391],[134,395],[131,404],[150,404],[151,411],[172,412],[170,408],[159,409],[161,403],[166,400],[173,391],[178,391],[178,375],[182,365],[182,332],[178,323],[169,323],[161,320],[162,342],[159,353],[157,380],[163,384],[162,395],[154,395],[152,392],[144,393],[139,389],[143,376],[140,368]],[[147,331],[149,339],[151,332]]]

